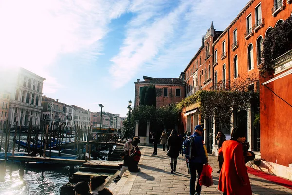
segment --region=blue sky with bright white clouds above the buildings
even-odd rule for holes
[[[179,77],[211,21],[225,30],[248,1],[0,0],[0,67],[46,78],[47,97],[125,117],[137,79]]]

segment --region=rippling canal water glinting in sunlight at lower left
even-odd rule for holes
[[[21,135],[21,140],[26,140],[27,135]],[[17,139],[19,134],[17,134]],[[1,139],[1,135],[0,135]],[[0,140],[1,141],[1,140]],[[2,149],[4,151],[5,134],[3,137]],[[13,135],[9,137],[9,152],[12,152]],[[20,152],[24,152],[20,147]],[[18,151],[18,146],[15,146]],[[78,166],[74,171],[78,171]],[[43,177],[42,177],[43,172]],[[0,169],[0,195],[60,195],[61,187],[69,181],[69,167],[48,167],[36,168],[25,167],[24,176],[19,176],[19,165],[10,164],[6,170]]]

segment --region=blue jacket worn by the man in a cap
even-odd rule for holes
[[[194,163],[207,163],[207,157],[204,149],[204,144],[203,144],[203,137],[199,136],[197,132],[194,132],[193,135],[190,136],[194,137],[193,140],[193,145],[192,145],[192,150],[196,150],[196,156],[194,158],[191,158],[189,162],[194,162]]]

